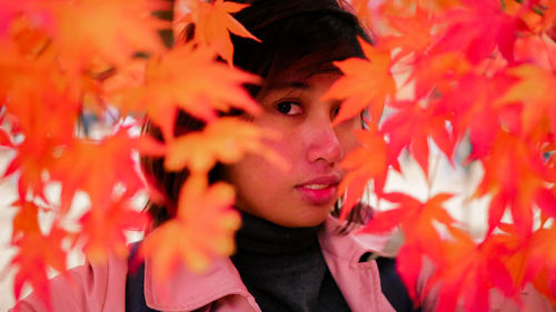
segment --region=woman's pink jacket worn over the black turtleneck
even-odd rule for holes
[[[393,312],[380,290],[378,268],[375,261],[359,262],[366,252],[383,250],[386,236],[339,235],[337,221],[329,218],[319,242],[326,263],[341,293],[354,312]],[[125,312],[126,259],[110,258],[105,265],[86,264],[70,270],[64,276],[51,280],[52,305],[56,312]],[[423,274],[417,293],[426,282]],[[147,305],[158,311],[198,312],[260,312],[252,295],[241,282],[229,259],[214,262],[202,275],[180,266],[166,282],[153,279],[151,263],[145,263],[145,298]],[[523,294],[524,311],[556,311],[546,298],[530,288]],[[436,299],[428,295],[423,311],[434,311]],[[513,301],[497,293],[490,294],[490,311],[522,311]],[[20,301],[13,312],[48,312],[37,295]],[[459,306],[457,311],[464,311]]]

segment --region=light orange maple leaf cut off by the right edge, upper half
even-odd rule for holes
[[[509,68],[506,72],[519,80],[499,99],[502,104],[523,102],[522,124],[529,133],[543,118],[548,118],[556,130],[556,74],[534,64]]]

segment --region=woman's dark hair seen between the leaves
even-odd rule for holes
[[[296,72],[312,74],[337,71],[332,61],[350,57],[364,57],[357,38],[370,42],[357,18],[350,13],[346,3],[336,0],[256,0],[239,1],[250,3],[249,7],[235,14],[261,42],[231,36],[234,43],[234,66],[264,78],[261,85],[246,85],[255,98],[265,89]],[[195,31],[190,26],[185,29],[177,42],[189,40]],[[236,114],[238,112],[222,112]],[[205,127],[201,120],[180,111],[176,121],[175,134],[200,131]],[[162,141],[160,130],[146,122],[143,131]],[[162,193],[161,202],[149,201],[147,210],[155,221],[155,227],[172,218],[176,213],[177,200],[181,185],[189,175],[187,169],[180,172],[168,172],[160,158],[141,159],[147,180]],[[209,173],[209,181],[222,179],[222,167],[217,164]],[[335,213],[339,212],[336,204]],[[364,209],[365,210],[365,209]],[[363,222],[367,215],[356,209],[348,221]],[[366,219],[366,218],[364,218]]]

